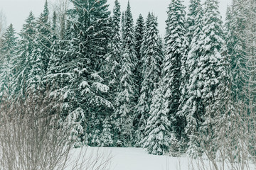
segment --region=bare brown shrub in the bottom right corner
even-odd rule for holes
[[[250,170],[255,162],[255,118],[247,115],[247,107],[243,103],[231,111],[223,108],[225,111],[228,112],[218,114],[219,122],[208,128],[210,132],[201,134],[201,147],[208,166],[204,166],[206,160],[202,158],[197,159],[198,166],[213,170]]]

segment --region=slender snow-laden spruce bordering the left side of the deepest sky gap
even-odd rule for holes
[[[161,79],[161,62],[164,59],[164,52],[159,44],[158,23],[153,13],[146,18],[146,26],[142,40],[142,89],[139,101],[135,108],[135,115],[138,119],[137,130],[135,131],[135,146],[142,147],[145,138],[146,122],[149,118],[150,105],[154,89],[158,88]]]

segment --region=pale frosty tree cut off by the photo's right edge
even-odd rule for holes
[[[236,26],[239,28],[244,27],[244,30],[242,30],[240,33],[237,29],[235,29],[235,35],[239,36],[238,40],[242,39],[242,45],[238,44],[239,48],[236,48],[235,50],[238,53],[238,55],[234,55],[234,58],[238,60],[238,66],[240,64],[240,67],[238,68],[238,71],[233,70],[233,75],[238,77],[240,72],[242,72],[242,80],[244,82],[244,85],[242,86],[242,94],[241,96],[237,96],[238,102],[243,103],[245,105],[245,113],[242,113],[240,111],[240,114],[243,118],[246,118],[247,120],[250,120],[250,123],[248,123],[248,133],[250,135],[247,136],[248,138],[248,150],[250,152],[250,156],[255,158],[255,138],[256,135],[254,133],[255,131],[255,102],[256,102],[256,91],[255,91],[255,83],[256,83],[256,64],[255,64],[255,40],[256,40],[256,2],[252,0],[246,0],[246,1],[237,1],[236,8],[238,8],[238,11],[240,13],[236,13],[238,16],[235,16],[236,23],[240,23],[241,21],[246,21],[245,23],[241,23],[240,26]],[[242,19],[240,17],[242,16]],[[243,34],[242,34],[243,33]],[[242,51],[242,52],[241,52]],[[240,58],[239,58],[240,57]],[[235,61],[233,61],[233,64]],[[244,64],[244,65],[241,65]],[[244,67],[242,67],[244,66]],[[234,78],[236,78],[234,77]],[[240,83],[241,78],[238,80],[235,80],[234,83]],[[238,90],[241,88],[242,84],[237,84],[236,91],[238,93]],[[239,94],[238,94],[239,95]],[[241,102],[242,101],[242,102]],[[246,122],[246,121],[245,121]]]

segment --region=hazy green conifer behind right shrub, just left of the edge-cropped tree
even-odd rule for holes
[[[247,7],[251,10],[252,7],[246,7],[246,4],[248,4],[246,1],[234,0],[230,13],[227,13],[228,18],[225,24],[228,54],[231,56],[232,91],[235,103],[247,103],[245,93],[241,93],[241,91],[245,90],[246,80],[249,79],[246,68],[246,64],[249,63],[247,61],[248,57],[246,57],[248,56],[246,41],[250,39],[247,31],[251,29],[247,29],[247,23],[250,23],[248,21],[249,16],[247,16]]]

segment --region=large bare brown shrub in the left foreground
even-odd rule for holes
[[[60,124],[60,105],[53,103],[47,97],[1,103],[0,169],[107,169],[110,159],[102,153],[91,153],[91,159],[85,157],[86,152],[72,154],[72,127]]]

